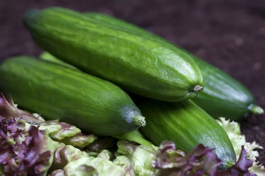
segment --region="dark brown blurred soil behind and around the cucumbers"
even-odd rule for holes
[[[40,54],[22,16],[49,6],[103,12],[150,30],[241,81],[265,108],[265,1],[0,0],[0,61]],[[265,115],[247,117],[241,130],[265,147]]]

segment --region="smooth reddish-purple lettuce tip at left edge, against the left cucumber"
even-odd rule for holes
[[[40,118],[36,118],[32,114],[18,109],[17,105],[14,104],[12,97],[10,99],[6,99],[3,93],[0,93],[0,115],[7,119],[22,117],[25,121],[33,121],[36,123],[42,122]]]

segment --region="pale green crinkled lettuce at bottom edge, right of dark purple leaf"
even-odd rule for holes
[[[54,153],[54,162],[51,166],[51,170],[56,172],[51,174],[124,176],[125,170],[109,161],[108,153],[108,150],[103,150],[95,158],[70,145],[59,147]]]

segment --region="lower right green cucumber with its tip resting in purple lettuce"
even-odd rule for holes
[[[145,116],[146,126],[140,131],[154,145],[173,141],[177,149],[188,153],[198,144],[214,148],[223,163],[235,162],[232,143],[225,130],[191,100],[170,103],[146,98],[134,100]]]

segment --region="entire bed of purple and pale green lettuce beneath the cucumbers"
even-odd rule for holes
[[[239,124],[225,118],[218,123],[227,132],[237,162],[218,170],[222,161],[213,149],[199,144],[189,153],[174,143],[138,145],[133,141],[83,134],[75,126],[45,121],[38,114],[17,108],[12,98],[0,95],[0,175],[50,176],[262,176],[264,166],[255,162],[261,146],[246,142]],[[139,137],[141,137],[139,135]],[[112,144],[117,142],[113,150]]]

